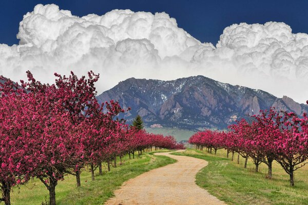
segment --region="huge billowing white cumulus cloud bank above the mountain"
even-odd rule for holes
[[[201,43],[166,13],[112,10],[79,17],[56,5],[36,5],[20,23],[18,45],[0,44],[0,72],[13,80],[30,70],[101,74],[99,92],[128,77],[176,79],[204,75],[224,83],[308,97],[308,35],[284,23],[234,24],[217,45]]]

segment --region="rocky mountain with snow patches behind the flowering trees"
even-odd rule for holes
[[[275,107],[298,115],[308,106],[298,104],[287,96],[277,98],[262,90],[232,86],[198,75],[176,80],[129,78],[103,92],[98,100],[103,103],[118,100],[128,122],[141,115],[146,126],[160,124],[169,128],[225,129],[247,114]]]

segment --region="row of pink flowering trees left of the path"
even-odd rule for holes
[[[21,84],[2,77],[0,83],[0,189],[6,205],[13,186],[31,177],[42,181],[55,204],[55,187],[67,174],[94,170],[102,162],[151,146],[183,149],[170,136],[153,135],[125,125],[118,115],[125,112],[111,100],[100,105],[95,98],[93,72],[78,78],[55,74],[54,84],[42,84],[27,72]],[[129,108],[128,108],[129,110]]]

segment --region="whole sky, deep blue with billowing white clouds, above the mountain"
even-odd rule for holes
[[[304,103],[305,8],[307,1],[1,1],[0,73],[17,81],[30,70],[52,83],[54,72],[93,70],[99,93],[128,77],[204,75]]]

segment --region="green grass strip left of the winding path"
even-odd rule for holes
[[[85,170],[81,174],[80,188],[75,187],[74,176],[65,176],[65,180],[59,181],[56,186],[57,204],[103,204],[113,196],[113,191],[118,189],[124,181],[176,161],[165,156],[155,156],[152,153],[144,153],[140,158],[135,159],[128,159],[128,156],[125,156],[123,165],[118,165],[117,168],[111,167],[111,171],[105,171],[102,176],[98,174],[97,169],[94,181],[91,180],[90,172]],[[119,159],[118,162],[120,162]],[[103,170],[107,170],[107,165],[103,166]],[[49,192],[42,182],[33,179],[26,186],[14,188],[11,202],[12,205],[41,204],[49,198],[48,196]]]

